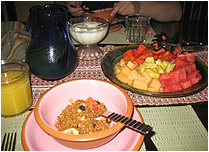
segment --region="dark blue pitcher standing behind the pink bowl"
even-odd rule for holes
[[[69,39],[67,8],[47,4],[30,8],[31,43],[26,62],[30,71],[45,80],[58,80],[77,66],[77,51]]]

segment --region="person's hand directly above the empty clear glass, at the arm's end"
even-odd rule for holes
[[[135,4],[134,1],[120,1],[114,4],[114,9],[111,15],[114,16],[116,13],[121,15],[135,14],[138,10],[138,5]]]

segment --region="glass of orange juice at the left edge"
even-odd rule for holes
[[[29,67],[23,61],[1,61],[1,116],[27,111],[32,104]]]

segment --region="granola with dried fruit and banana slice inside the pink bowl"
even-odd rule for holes
[[[71,104],[57,116],[55,127],[58,131],[68,134],[92,134],[110,127],[109,119],[95,119],[107,111],[103,103],[91,97],[69,101]]]

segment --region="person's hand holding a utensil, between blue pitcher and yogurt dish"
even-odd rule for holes
[[[81,8],[82,2],[81,1],[69,1],[67,3],[68,11],[70,12],[71,15],[73,16],[81,16],[84,14],[83,8],[87,8],[85,5],[83,8]]]

